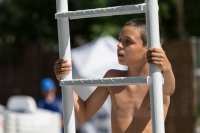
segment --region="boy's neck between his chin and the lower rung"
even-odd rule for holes
[[[128,67],[127,76],[148,76],[148,64],[141,67]]]

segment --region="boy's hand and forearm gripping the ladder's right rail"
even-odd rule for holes
[[[175,78],[169,62],[163,49],[150,48],[146,53],[146,60],[160,68],[163,72],[164,84],[163,94],[172,95],[175,90]]]

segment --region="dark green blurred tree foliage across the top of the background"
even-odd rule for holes
[[[69,10],[82,10],[109,6],[143,3],[144,0],[69,0]],[[177,0],[159,0],[160,26],[165,40],[177,38]],[[199,36],[199,0],[185,1],[186,35]],[[0,4],[0,46],[16,48],[38,43],[44,50],[57,46],[56,1],[53,0],[4,0]],[[84,44],[98,36],[110,34],[117,38],[124,23],[139,15],[122,15],[89,19],[70,20],[72,47]],[[191,24],[192,23],[192,24]]]

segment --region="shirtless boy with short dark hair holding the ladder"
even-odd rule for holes
[[[119,34],[117,48],[118,62],[128,66],[128,70],[108,70],[104,78],[148,76],[148,63],[154,64],[163,72],[165,81],[163,84],[163,107],[166,118],[170,95],[175,90],[174,74],[162,48],[147,49],[144,19],[133,19],[124,25]],[[71,66],[67,62],[65,59],[56,61],[54,71],[58,80],[62,74],[68,74],[71,71]],[[149,85],[99,86],[86,101],[74,92],[77,121],[80,124],[87,122],[109,95],[112,101],[112,133],[152,133]]]

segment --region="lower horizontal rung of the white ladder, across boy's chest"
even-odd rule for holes
[[[133,84],[149,84],[149,76],[102,79],[71,79],[60,81],[60,86],[124,86]]]

